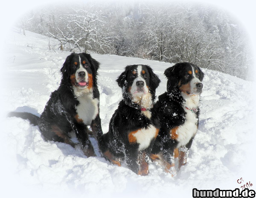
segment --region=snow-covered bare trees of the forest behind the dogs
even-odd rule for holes
[[[114,54],[202,68],[247,80],[252,55],[242,24],[193,3],[70,3],[33,9],[17,26],[57,39],[49,50]]]

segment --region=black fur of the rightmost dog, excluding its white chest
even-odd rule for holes
[[[189,75],[192,68],[194,68],[195,76]],[[197,73],[195,73],[195,71]],[[154,105],[154,109],[157,111],[160,118],[161,127],[157,140],[155,141],[152,149],[152,154],[154,155],[151,155],[151,158],[163,158],[163,164],[166,166],[166,171],[169,172],[170,166],[174,166],[175,149],[179,149],[180,156],[182,154],[181,152],[183,151],[185,151],[185,155],[187,155],[194,138],[194,135],[192,135],[190,140],[187,141],[185,145],[179,146],[179,141],[177,140],[177,137],[174,136],[179,134],[174,133],[172,135],[172,130],[177,129],[186,122],[186,111],[194,114],[196,119],[195,124],[198,126],[198,116],[200,112],[199,106],[197,106],[196,109],[186,109],[184,106],[186,104],[186,100],[189,100],[189,97],[193,96],[189,95],[190,91],[183,92],[182,86],[189,84],[195,77],[202,81],[204,78],[204,73],[198,66],[192,63],[177,63],[175,66],[166,69],[164,74],[168,79],[167,92],[160,95],[159,100]],[[183,95],[186,95],[186,99],[183,98],[182,92]],[[196,94],[200,93],[201,89],[199,89],[198,93]],[[184,165],[185,163],[186,159],[180,159],[178,169],[180,169],[180,166]]]

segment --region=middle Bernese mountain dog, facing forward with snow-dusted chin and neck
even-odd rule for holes
[[[111,163],[128,168],[138,175],[148,174],[151,148],[160,129],[153,108],[160,79],[150,66],[130,65],[117,78],[123,99],[112,115],[109,130],[99,138],[99,149]]]

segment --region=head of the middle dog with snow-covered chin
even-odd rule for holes
[[[129,65],[116,79],[122,88],[124,98],[130,98],[133,103],[144,108],[150,108],[155,99],[155,91],[160,79],[150,66]]]

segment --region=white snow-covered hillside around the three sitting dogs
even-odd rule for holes
[[[25,37],[15,28],[10,32],[3,56],[4,113],[18,108],[39,115],[44,110],[50,93],[59,86],[59,70],[70,54],[49,50],[49,43],[55,45],[54,40],[39,34],[26,32]],[[157,96],[166,90],[163,72],[172,64],[116,55],[91,55],[101,63],[98,83],[103,132],[108,131],[111,116],[122,98],[115,79],[126,65],[148,64],[162,80]],[[40,197],[47,193],[79,196],[89,192],[122,197],[146,194],[192,197],[192,188],[239,188],[236,181],[241,177],[247,181],[254,178],[255,183],[256,178],[250,174],[252,146],[248,146],[254,130],[252,83],[220,72],[203,71],[198,134],[188,163],[176,177],[163,172],[157,162],[149,164],[148,176],[138,176],[125,166],[111,165],[100,157],[93,139],[98,157],[87,158],[81,150],[65,143],[45,142],[38,127],[28,121],[6,118],[2,123],[5,129],[1,132],[2,146],[5,146],[1,149],[1,161],[4,161],[1,186],[9,195],[21,197],[32,197],[38,192]]]

